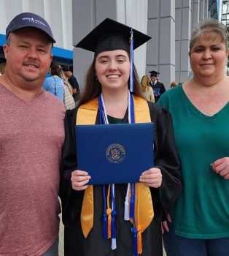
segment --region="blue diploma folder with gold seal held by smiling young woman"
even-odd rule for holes
[[[153,123],[76,125],[75,132],[77,168],[89,184],[139,182],[154,166]]]

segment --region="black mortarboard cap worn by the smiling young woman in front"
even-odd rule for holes
[[[125,50],[130,53],[131,27],[106,18],[98,24],[76,47],[101,53],[106,50]],[[151,37],[133,29],[133,49],[147,42]]]

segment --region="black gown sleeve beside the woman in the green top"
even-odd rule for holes
[[[155,217],[166,219],[166,214],[182,192],[182,176],[179,157],[174,142],[174,129],[171,114],[160,106],[148,102],[151,120],[155,123],[154,153],[155,167],[160,168],[162,184],[152,188]]]

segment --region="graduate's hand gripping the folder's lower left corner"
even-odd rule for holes
[[[74,190],[85,190],[88,187],[86,184],[89,180],[90,176],[84,170],[74,170],[71,173],[71,186]]]

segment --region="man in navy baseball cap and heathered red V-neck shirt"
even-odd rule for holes
[[[0,77],[0,255],[58,255],[64,106],[42,89],[55,39],[23,12],[6,29]]]

